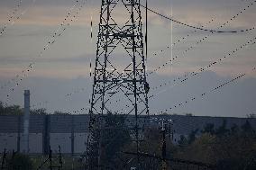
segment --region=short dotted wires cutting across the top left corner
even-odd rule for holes
[[[0,28],[0,36],[4,35],[4,33],[6,33],[7,28],[10,25],[14,25],[14,23],[16,21],[18,21],[19,19],[21,19],[21,17],[23,16],[23,14],[27,13],[27,11],[29,10],[29,8],[36,2],[36,0],[32,0],[32,4],[31,6],[28,6],[22,13],[18,13],[19,8],[22,6],[22,0],[20,0],[18,2],[18,4],[15,6],[13,12],[11,13],[11,15],[9,16],[9,18],[7,19],[7,22],[5,22],[4,26],[2,28]]]

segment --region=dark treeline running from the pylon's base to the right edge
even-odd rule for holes
[[[137,166],[136,142],[123,116],[108,114],[101,139],[101,162],[105,168],[127,169]],[[91,141],[98,142],[97,135]],[[140,169],[162,169],[162,144],[163,136],[160,129],[151,127],[143,130],[143,139],[140,152],[150,157],[140,157]],[[220,127],[214,124],[206,124],[203,130],[192,130],[185,137],[181,136],[178,144],[173,144],[171,137],[166,135],[166,157],[169,160],[185,160],[185,162],[197,162],[203,165],[213,165],[216,170],[255,170],[256,169],[256,134],[250,121],[242,126],[233,124],[227,128],[227,122],[223,121]],[[95,143],[95,144],[96,144]],[[96,146],[98,143],[96,144]],[[98,146],[99,147],[99,146]],[[97,162],[97,147],[91,153],[91,158]],[[91,161],[94,165],[96,162]],[[93,165],[91,165],[93,166]],[[193,166],[193,164],[188,164]],[[177,164],[167,161],[167,169],[187,170],[186,163]],[[188,169],[198,169],[197,166]],[[206,169],[206,168],[200,168]]]

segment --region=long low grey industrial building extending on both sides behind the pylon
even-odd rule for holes
[[[152,116],[154,117],[154,116]],[[204,116],[165,115],[157,116],[173,121],[174,138],[177,143],[180,135],[187,136],[192,130],[203,130],[206,124],[212,123],[215,128],[227,121],[227,128],[233,124],[242,126],[250,121],[256,130],[256,119],[221,118]],[[31,115],[29,151],[31,154],[48,153],[49,146],[53,152],[81,154],[87,148],[89,116],[85,115]],[[23,143],[23,116],[0,116],[0,152],[5,148],[9,151],[20,149],[25,151]]]

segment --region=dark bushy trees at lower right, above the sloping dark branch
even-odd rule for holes
[[[256,169],[256,133],[246,121],[241,127],[226,121],[215,128],[206,124],[203,130],[193,130],[181,136],[172,157],[216,165],[219,170]]]

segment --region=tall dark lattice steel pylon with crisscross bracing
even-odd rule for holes
[[[140,0],[102,0],[90,101],[91,133],[101,129],[100,118],[107,112],[133,115],[137,152],[141,130],[139,119],[149,114],[140,3]],[[100,131],[98,135],[100,139]],[[100,165],[100,141],[97,146]]]

